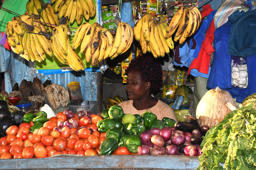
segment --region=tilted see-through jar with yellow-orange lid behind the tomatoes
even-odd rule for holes
[[[70,82],[68,92],[71,104],[80,105],[84,101],[79,82]]]

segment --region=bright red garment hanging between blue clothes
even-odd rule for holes
[[[208,74],[209,71],[209,65],[211,60],[211,53],[215,50],[212,47],[213,39],[214,39],[214,20],[212,20],[208,30],[205,33],[205,40],[203,42],[202,40],[202,46],[201,50],[197,56],[191,63],[191,65],[188,68],[187,74],[190,74],[191,69],[195,68],[199,72]]]

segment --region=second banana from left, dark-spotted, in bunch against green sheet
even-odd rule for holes
[[[80,48],[81,53],[84,53],[88,49],[91,43],[91,40],[93,39],[94,31],[95,31],[94,25],[89,26],[85,31],[84,38],[82,40],[81,48]]]

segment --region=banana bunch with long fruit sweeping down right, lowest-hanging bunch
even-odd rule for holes
[[[83,61],[72,50],[68,32],[70,33],[70,29],[65,24],[60,24],[54,28],[51,40],[53,54],[61,64],[68,64],[75,71],[84,70]]]

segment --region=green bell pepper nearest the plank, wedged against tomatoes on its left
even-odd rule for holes
[[[111,155],[118,148],[114,138],[105,139],[100,145],[101,155]]]

